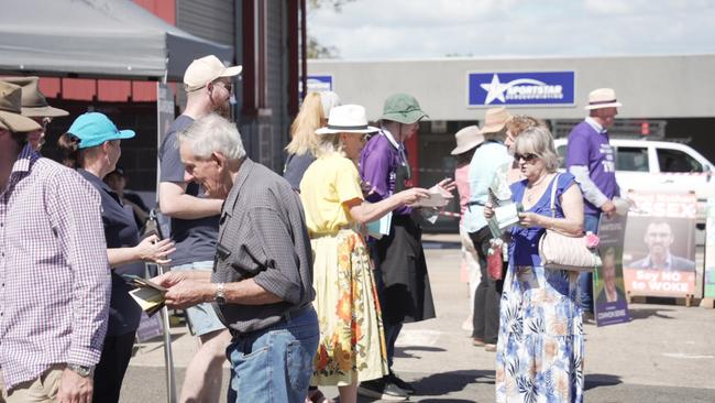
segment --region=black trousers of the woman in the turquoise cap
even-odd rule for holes
[[[117,403],[122,381],[132,358],[135,333],[120,336],[107,336],[102,356],[95,369],[95,391],[92,402]]]

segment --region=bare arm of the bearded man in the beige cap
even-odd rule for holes
[[[198,219],[221,214],[223,200],[186,194],[185,183],[158,184],[158,205],[162,213],[174,218]]]

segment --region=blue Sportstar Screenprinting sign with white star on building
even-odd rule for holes
[[[469,73],[468,105],[573,106],[574,72]]]

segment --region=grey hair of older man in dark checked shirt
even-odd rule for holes
[[[208,160],[215,152],[229,161],[240,161],[245,156],[239,129],[216,113],[196,120],[178,133],[178,140],[179,143],[186,142],[200,160]]]

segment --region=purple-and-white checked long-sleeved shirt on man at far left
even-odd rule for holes
[[[111,280],[100,197],[26,145],[0,189],[0,369],[8,390],[53,363],[99,362]]]

